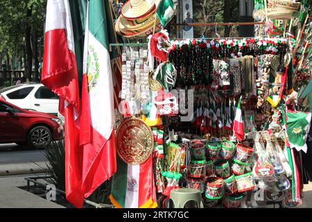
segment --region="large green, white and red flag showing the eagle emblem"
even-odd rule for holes
[[[114,87],[110,43],[114,40],[110,2],[89,0],[85,26],[80,145],[85,198],[116,172]]]

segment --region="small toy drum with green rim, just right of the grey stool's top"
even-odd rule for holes
[[[219,200],[223,198],[224,180],[222,178],[207,178],[205,196],[209,200]]]

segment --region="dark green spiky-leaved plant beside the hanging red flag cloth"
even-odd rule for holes
[[[49,164],[46,164],[46,173],[51,178],[46,181],[55,185],[57,189],[65,190],[65,148],[64,140],[51,142],[44,150],[44,155]]]

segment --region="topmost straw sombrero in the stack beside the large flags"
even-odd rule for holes
[[[121,8],[121,15],[125,19],[141,19],[156,9],[156,3],[156,0],[129,0]]]

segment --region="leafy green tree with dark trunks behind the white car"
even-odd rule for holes
[[[0,62],[13,69],[21,58],[26,62],[25,76],[31,80],[33,60],[36,80],[42,60],[46,0],[0,0]]]

